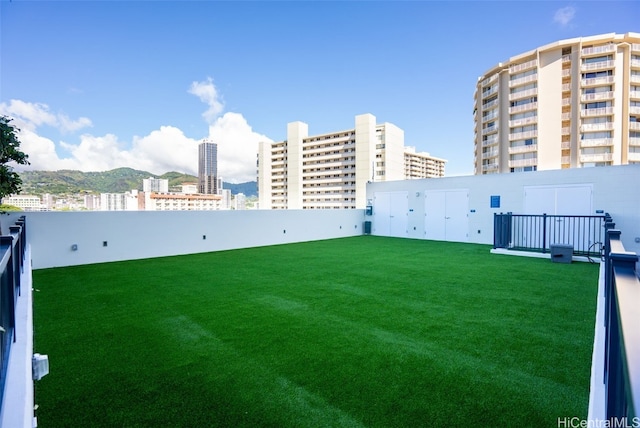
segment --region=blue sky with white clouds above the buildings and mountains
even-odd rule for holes
[[[558,40],[640,32],[637,1],[0,0],[0,114],[30,169],[255,179],[260,140],[371,113],[473,174],[478,76]]]

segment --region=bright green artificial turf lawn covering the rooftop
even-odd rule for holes
[[[361,236],[34,271],[39,426],[585,419],[598,267]]]

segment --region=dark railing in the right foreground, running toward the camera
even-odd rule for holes
[[[605,411],[609,421],[640,416],[640,280],[638,255],[625,251],[607,224],[605,260]],[[611,425],[614,426],[614,425]]]

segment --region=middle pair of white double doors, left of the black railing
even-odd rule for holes
[[[425,191],[425,238],[468,242],[469,191]]]

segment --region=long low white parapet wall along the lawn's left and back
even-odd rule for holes
[[[22,212],[0,216],[3,232],[20,215],[34,269],[355,236],[364,221],[364,210]]]

